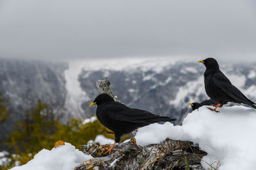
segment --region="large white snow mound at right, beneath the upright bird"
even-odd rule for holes
[[[203,157],[206,162],[220,161],[219,170],[255,169],[256,110],[244,106],[219,110],[216,113],[201,107],[189,113],[182,126],[166,122],[142,127],[135,136],[136,141],[145,146],[166,138],[188,140],[198,143],[208,153]],[[211,169],[204,162],[202,166]]]

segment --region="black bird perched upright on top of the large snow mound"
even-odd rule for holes
[[[198,62],[204,63],[206,67],[204,72],[205,91],[212,101],[218,103],[215,105],[216,108],[209,108],[210,110],[216,111],[218,107],[228,102],[244,103],[256,109],[255,103],[250,101],[240,90],[234,87],[220,71],[219,64],[215,59],[207,58]]]

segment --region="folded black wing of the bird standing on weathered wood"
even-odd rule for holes
[[[169,117],[161,117],[145,110],[128,108],[124,104],[109,104],[104,107],[106,115],[112,120],[133,123],[154,123],[173,121],[175,119]]]

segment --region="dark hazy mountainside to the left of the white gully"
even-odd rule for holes
[[[66,98],[63,71],[67,67],[67,63],[0,59],[0,92],[8,100],[11,120],[19,120],[38,99],[61,110]]]

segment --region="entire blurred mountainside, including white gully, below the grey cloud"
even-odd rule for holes
[[[200,60],[200,59],[198,59]],[[246,96],[256,101],[256,64],[220,62]],[[177,118],[191,110],[187,103],[207,99],[204,90],[205,67],[196,60],[172,57],[74,60],[68,63],[1,59],[0,92],[10,102],[13,121],[41,99],[65,122],[95,114],[88,107],[99,94],[95,82],[109,78],[121,101],[159,115]]]

